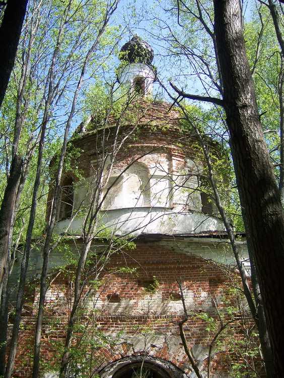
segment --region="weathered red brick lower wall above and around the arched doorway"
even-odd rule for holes
[[[138,242],[135,249],[111,257],[97,290],[90,290],[91,286],[87,285],[87,299],[79,322],[83,329],[78,330],[75,344],[86,333],[92,337],[100,331],[109,338],[102,347],[89,351],[88,355],[88,358],[92,355],[93,367],[101,371],[102,376],[104,368],[110,363],[140,355],[168,361],[183,373],[190,374],[192,368],[184,353],[178,329],[184,312],[177,281],[184,287],[189,312],[189,320],[184,325],[188,345],[192,347],[200,366],[205,368],[208,346],[215,332],[208,329],[203,314],[217,319],[212,299],[222,311],[225,292],[231,281],[217,265],[212,266],[196,256],[177,253],[171,250],[170,244],[165,247],[155,242]],[[121,267],[135,268],[135,272],[120,273]],[[89,267],[87,274],[91,274],[91,271],[92,267]],[[38,293],[36,282],[29,285],[15,376],[30,376],[30,348]],[[59,361],[58,345],[63,345],[72,293],[72,272],[60,274],[47,291],[42,373],[52,370],[50,365],[56,367]],[[237,324],[228,327],[229,334],[236,334],[237,330]],[[214,353],[212,377],[229,376],[227,355],[222,348]]]

